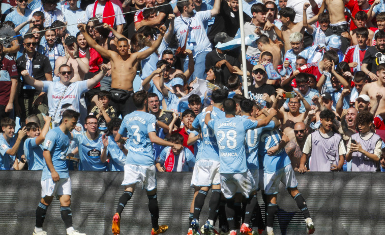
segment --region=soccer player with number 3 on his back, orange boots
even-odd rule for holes
[[[182,149],[182,145],[174,144],[156,135],[156,118],[147,113],[148,98],[146,91],[138,91],[132,96],[136,111],[126,115],[122,125],[115,136],[115,141],[119,142],[125,133],[128,133],[128,154],[126,165],[124,166],[125,186],[123,195],[119,198],[116,213],[112,219],[112,233],[120,233],[120,218],[128,200],[131,199],[136,185],[142,181],[142,187],[149,197],[149,211],[153,229],[152,235],[163,233],[167,230],[167,225],[158,225],[159,207],[156,193],[156,167],[154,164],[152,143],[171,146],[174,149]]]

